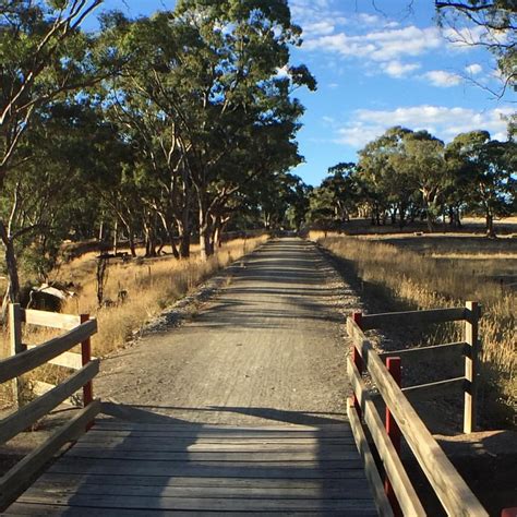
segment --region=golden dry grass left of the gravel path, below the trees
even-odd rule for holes
[[[93,353],[103,357],[124,345],[139,329],[166,306],[184,297],[217,270],[231,262],[250,253],[267,240],[267,236],[252,239],[236,239],[229,241],[209,257],[201,261],[199,250],[193,247],[191,258],[177,261],[172,256],[153,260],[133,260],[129,263],[115,263],[108,267],[108,278],[105,288],[106,297],[117,301],[118,292],[125,290],[128,297],[124,303],[113,306],[97,308],[96,298],[96,253],[88,253],[62,265],[55,277],[60,281],[73,281],[80,286],[77,297],[70,299],[62,312],[69,314],[88,313],[98,321],[98,334],[93,338]],[[24,341],[40,344],[59,332],[32,327],[24,330]],[[8,335],[0,329],[0,351],[2,357],[8,353]],[[38,372],[38,375],[41,372]],[[55,372],[44,372],[45,378]],[[39,377],[38,377],[39,378]],[[43,378],[40,378],[43,380]],[[29,381],[29,380],[27,380]],[[5,397],[10,396],[9,386],[3,385],[0,393],[0,406],[5,406]]]

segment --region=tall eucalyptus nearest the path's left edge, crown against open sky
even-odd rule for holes
[[[301,43],[301,29],[286,0],[180,0],[171,23],[182,41],[177,118],[206,256],[213,252],[212,213],[242,183],[270,173],[272,165],[260,161],[270,163],[268,156],[290,143],[303,110],[292,89],[314,88],[315,81],[305,67],[289,65],[289,46]],[[244,167],[232,166],[238,148],[248,151]]]

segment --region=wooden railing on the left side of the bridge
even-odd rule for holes
[[[41,345],[27,347],[22,342],[23,322],[68,332]],[[92,380],[99,371],[98,360],[91,360],[91,337],[97,332],[96,320],[91,320],[87,315],[24,310],[17,304],[11,304],[9,324],[13,354],[0,361],[0,383],[13,383],[19,407],[0,420],[0,444],[29,429],[80,389],[83,389],[84,408],[0,478],[0,509],[5,508],[25,490],[32,477],[64,444],[76,440],[100,410],[100,401],[93,399],[92,387]],[[77,345],[82,347],[81,356],[69,351]],[[77,357],[81,358],[80,362]],[[58,386],[49,385],[48,390],[35,400],[21,404],[17,378],[47,362],[76,371]]]

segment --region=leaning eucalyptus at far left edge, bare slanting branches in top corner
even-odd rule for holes
[[[99,80],[92,38],[81,23],[100,0],[16,0],[0,5],[0,193],[32,158],[22,152],[36,112],[68,92]],[[10,221],[0,219],[9,286],[19,298],[20,280]]]

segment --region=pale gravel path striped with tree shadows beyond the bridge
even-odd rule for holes
[[[294,238],[268,242],[231,275],[193,321],[106,359],[96,393],[118,414],[143,420],[342,420],[340,311],[357,303],[353,294],[312,243]]]

